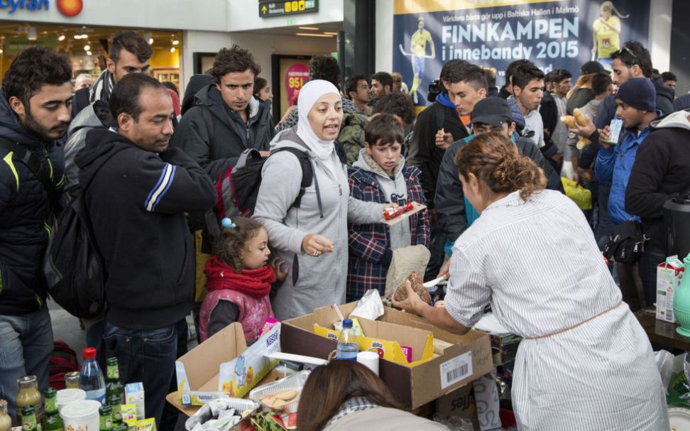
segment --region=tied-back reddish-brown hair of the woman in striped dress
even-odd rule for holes
[[[532,159],[520,156],[513,141],[500,133],[473,138],[456,154],[455,164],[460,175],[473,174],[493,193],[520,190],[522,200],[527,200],[546,187],[544,171]]]

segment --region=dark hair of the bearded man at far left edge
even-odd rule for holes
[[[23,50],[9,65],[2,78],[2,92],[6,99],[18,98],[26,109],[29,99],[43,85],[62,85],[72,80],[72,64],[65,55],[43,45]]]

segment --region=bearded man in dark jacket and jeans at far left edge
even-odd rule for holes
[[[48,388],[53,328],[41,258],[50,235],[45,220],[64,182],[55,141],[70,124],[71,78],[70,60],[36,46],[17,55],[2,80],[0,398],[8,400],[12,418],[17,378],[34,375],[40,391]]]

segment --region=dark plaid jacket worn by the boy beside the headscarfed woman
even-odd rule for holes
[[[408,202],[415,201],[420,204],[425,202],[425,195],[420,184],[420,173],[421,171],[414,166],[403,166]],[[361,168],[350,168],[348,177],[351,197],[364,202],[382,204],[386,202],[383,190],[376,180],[376,174]],[[428,248],[429,231],[429,212],[426,209],[410,216],[411,245],[422,244]],[[388,225],[349,223],[348,234],[347,294],[361,296],[367,290],[376,288],[383,295],[388,268],[381,263],[381,260],[385,251],[390,249]]]

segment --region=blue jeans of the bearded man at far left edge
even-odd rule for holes
[[[0,398],[16,419],[17,379],[36,376],[38,390],[48,389],[48,362],[53,353],[53,326],[48,307],[28,315],[0,315]]]

